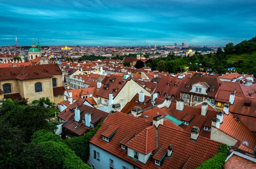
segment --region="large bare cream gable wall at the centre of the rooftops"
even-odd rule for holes
[[[151,96],[147,90],[145,90],[143,87],[141,87],[134,80],[127,81],[126,84],[121,89],[121,91],[119,91],[119,93],[114,98],[113,104],[119,103],[121,106],[120,109],[122,110],[123,107],[128,102],[130,102],[137,93],[139,93],[141,91],[143,91],[145,93],[145,95]]]

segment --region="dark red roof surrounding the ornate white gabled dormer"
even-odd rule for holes
[[[215,76],[202,76],[202,77],[196,77],[196,76],[192,76],[186,84],[195,84],[198,82],[206,82],[208,84],[208,86],[212,89],[212,86],[215,86],[213,91],[210,91],[211,89],[208,88],[207,89],[207,95],[210,97],[216,97],[217,93],[218,93],[218,89],[219,86],[221,84],[221,81],[219,80],[219,78],[215,77]],[[181,92],[185,92],[185,93],[190,93],[190,90],[192,89],[192,85],[189,85],[189,87],[186,87],[187,85],[184,85],[181,89]]]

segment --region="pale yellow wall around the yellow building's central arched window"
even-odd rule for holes
[[[42,83],[42,92],[35,92],[37,82]],[[23,97],[28,98],[29,103],[41,97],[48,97],[51,102],[54,102],[52,78],[25,80],[23,81],[23,90]]]

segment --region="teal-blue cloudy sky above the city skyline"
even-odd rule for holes
[[[256,36],[256,1],[1,0],[0,46],[225,45]]]

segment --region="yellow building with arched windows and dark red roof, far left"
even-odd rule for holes
[[[2,67],[0,72],[4,73],[0,75],[0,89],[5,98],[25,98],[29,103],[41,97],[54,103],[64,99],[62,73],[57,64]]]

